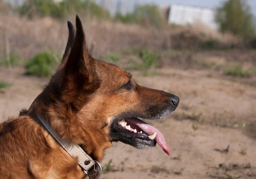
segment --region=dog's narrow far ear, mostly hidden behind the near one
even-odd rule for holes
[[[63,63],[63,61],[65,61],[65,60],[67,60],[67,58],[70,54],[70,50],[75,41],[75,36],[76,36],[76,29],[74,28],[73,24],[70,21],[67,21],[67,27],[68,27],[69,34],[68,34],[66,49],[65,49],[64,55],[62,57],[61,63]]]

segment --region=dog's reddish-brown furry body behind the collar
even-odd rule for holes
[[[81,168],[29,116],[0,125],[0,179],[81,179]]]

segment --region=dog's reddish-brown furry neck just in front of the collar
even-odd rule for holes
[[[30,106],[29,116],[35,118],[36,113],[44,115],[44,119],[61,139],[70,140],[81,146],[88,155],[99,162],[104,158],[105,149],[111,147],[111,142],[108,139],[102,139],[101,143],[95,143],[99,140],[95,140],[95,136],[88,131],[94,126],[86,123],[87,119],[81,121],[73,107],[61,100],[61,94],[58,94],[58,90],[53,91],[50,85],[38,95]]]

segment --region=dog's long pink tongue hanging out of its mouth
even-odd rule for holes
[[[137,125],[139,128],[141,128],[146,134],[148,134],[149,136],[154,134],[154,132],[157,133],[155,140],[157,141],[157,144],[163,148],[163,151],[167,154],[170,155],[170,149],[166,144],[166,140],[164,139],[163,134],[158,131],[156,128],[154,128],[153,126],[149,125],[148,123],[140,120],[140,119],[125,119],[135,125]]]

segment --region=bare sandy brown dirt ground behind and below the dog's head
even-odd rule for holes
[[[23,73],[0,67],[0,80],[11,83],[0,91],[0,121],[28,108],[49,80]],[[148,77],[134,72],[139,84],[180,97],[171,117],[147,121],[164,134],[172,154],[159,146],[138,150],[113,143],[101,178],[256,179],[256,87],[207,74],[172,68]]]

